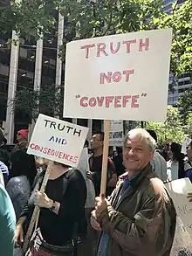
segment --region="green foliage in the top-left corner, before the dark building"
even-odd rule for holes
[[[53,9],[55,4],[51,0],[12,0],[10,6],[0,7],[0,31],[15,30],[24,39],[39,38],[54,27]]]

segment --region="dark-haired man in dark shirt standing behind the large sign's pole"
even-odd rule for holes
[[[94,183],[95,194],[99,196],[100,179],[103,160],[103,145],[104,145],[104,133],[96,132],[91,140],[91,147],[93,150],[93,156],[89,158],[90,173],[87,177]],[[114,163],[111,158],[108,157],[107,165],[107,186],[106,195],[110,196],[117,183],[117,174]]]

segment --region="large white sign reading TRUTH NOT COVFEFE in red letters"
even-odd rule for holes
[[[68,43],[64,116],[164,121],[171,38],[167,29]]]

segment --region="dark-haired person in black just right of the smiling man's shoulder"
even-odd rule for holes
[[[185,177],[184,155],[181,153],[182,146],[178,143],[171,143],[171,159],[167,162],[168,180],[175,180]]]

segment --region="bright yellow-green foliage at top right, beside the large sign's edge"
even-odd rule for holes
[[[158,28],[173,28],[171,71],[175,76],[192,70],[192,1],[185,1],[180,7],[173,4],[171,15],[157,21]]]

